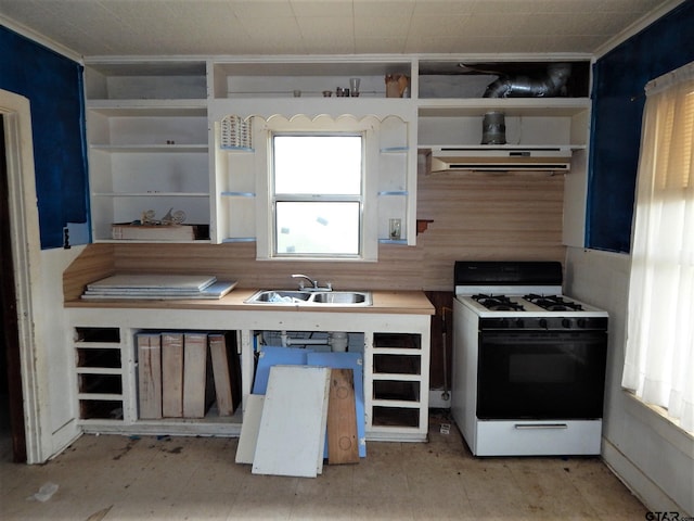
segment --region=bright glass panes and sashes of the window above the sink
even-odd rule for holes
[[[272,158],[273,256],[359,257],[362,136],[275,134]]]

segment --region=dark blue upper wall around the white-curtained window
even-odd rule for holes
[[[630,251],[643,89],[693,60],[694,0],[687,0],[595,63],[588,247]]]

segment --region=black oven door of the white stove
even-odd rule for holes
[[[483,330],[477,418],[602,418],[605,331]]]

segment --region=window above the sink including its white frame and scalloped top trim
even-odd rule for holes
[[[375,262],[380,127],[373,116],[254,117],[260,260]]]

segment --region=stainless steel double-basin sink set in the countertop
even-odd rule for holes
[[[271,304],[274,306],[371,306],[369,291],[292,291],[260,290],[245,304]]]

